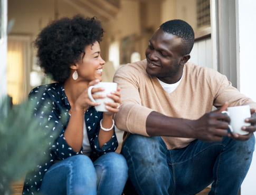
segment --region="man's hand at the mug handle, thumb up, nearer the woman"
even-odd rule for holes
[[[204,114],[200,119],[191,121],[191,137],[206,142],[221,141],[228,134],[229,116],[221,113],[227,109],[225,103],[220,109]]]

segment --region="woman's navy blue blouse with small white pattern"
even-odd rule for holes
[[[35,194],[40,190],[40,185],[45,172],[53,164],[54,160],[64,160],[73,155],[82,154],[75,152],[70,145],[65,141],[64,132],[69,122],[69,110],[71,109],[67,95],[65,94],[63,83],[53,83],[48,85],[41,85],[33,89],[29,94],[29,100],[33,100],[36,106],[33,115],[36,120],[45,120],[53,123],[53,127],[45,125],[44,130],[55,132],[58,131],[59,137],[50,135],[50,154],[44,152],[45,160],[38,164],[31,173],[28,173],[23,187],[23,194]],[[45,114],[42,108],[48,110],[50,114]],[[63,117],[62,115],[65,115]],[[90,158],[92,161],[96,160],[100,155],[107,152],[114,152],[118,147],[117,137],[114,132],[112,138],[105,144],[102,149],[99,147],[98,133],[100,131],[100,120],[103,113],[94,109],[94,106],[89,106],[89,109],[84,113],[84,120],[86,121],[88,139],[91,147]],[[62,119],[65,118],[63,121]],[[50,155],[50,156],[47,156]]]

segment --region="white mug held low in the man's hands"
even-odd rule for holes
[[[240,135],[249,134],[248,131],[243,131],[242,126],[250,126],[251,123],[246,123],[244,120],[251,117],[249,105],[234,106],[227,108],[227,111],[222,111],[230,117],[229,128],[231,133],[239,133]]]

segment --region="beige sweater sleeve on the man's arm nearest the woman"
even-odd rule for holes
[[[138,70],[124,65],[114,76],[113,82],[121,88],[122,102],[119,112],[115,115],[115,123],[120,130],[149,136],[146,132],[146,120],[153,110],[141,105],[139,91],[143,90],[145,82],[144,75],[138,74]]]

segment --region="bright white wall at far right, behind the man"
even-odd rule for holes
[[[238,86],[241,93],[249,96],[256,102],[256,66],[254,62],[255,45],[256,45],[256,15],[255,15],[255,0],[236,0],[238,8],[239,27],[239,47],[240,64],[238,65]],[[238,50],[239,51],[239,50]],[[256,135],[254,133],[254,135]],[[256,152],[253,153],[253,160],[250,170],[242,184],[241,195],[255,195],[256,181]]]

